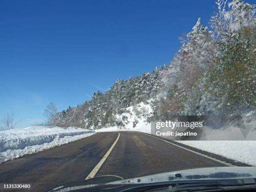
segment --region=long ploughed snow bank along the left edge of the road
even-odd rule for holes
[[[0,131],[0,163],[77,141],[94,133],[93,130],[77,127],[47,126]]]

